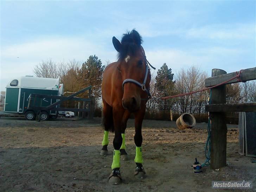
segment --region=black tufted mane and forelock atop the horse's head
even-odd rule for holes
[[[134,56],[140,49],[143,40],[140,34],[132,30],[124,33],[121,40],[122,50],[118,54],[119,59],[124,59],[127,55]]]

